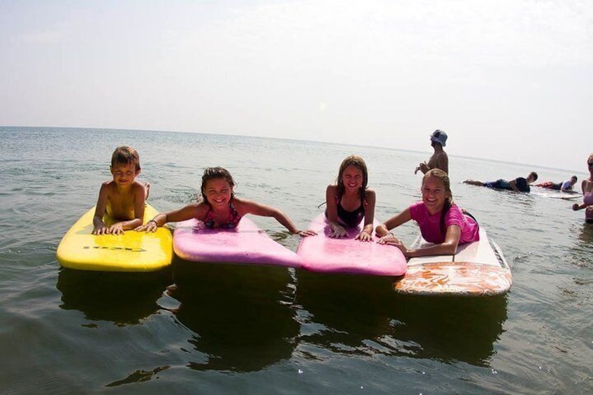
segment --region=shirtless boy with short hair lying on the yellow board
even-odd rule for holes
[[[136,181],[140,174],[140,156],[131,147],[117,147],[109,166],[113,180],[103,182],[93,217],[92,234],[123,234],[143,223],[144,205],[150,184]],[[105,215],[116,222],[105,224]]]

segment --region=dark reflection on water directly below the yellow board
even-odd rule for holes
[[[62,268],[57,289],[64,310],[80,310],[92,321],[138,324],[159,310],[157,300],[171,284],[170,271],[108,273]]]

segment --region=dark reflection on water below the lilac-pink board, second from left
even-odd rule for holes
[[[178,259],[170,296],[176,318],[203,353],[197,371],[259,371],[290,359],[299,324],[294,319],[287,268],[198,264]]]

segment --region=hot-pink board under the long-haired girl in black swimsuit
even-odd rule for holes
[[[399,248],[373,241],[355,240],[362,227],[346,229],[345,238],[331,238],[325,214],[318,215],[308,229],[316,236],[301,239],[296,253],[303,259],[303,268],[323,273],[368,275],[402,275],[406,273],[406,257]]]

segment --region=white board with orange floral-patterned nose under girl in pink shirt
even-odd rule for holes
[[[489,296],[508,292],[512,284],[499,246],[480,228],[480,240],[459,246],[455,255],[410,259],[394,289],[401,294]]]

